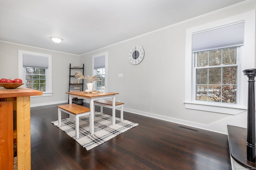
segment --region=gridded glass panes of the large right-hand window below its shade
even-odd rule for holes
[[[195,100],[237,104],[239,49],[229,47],[193,53]]]

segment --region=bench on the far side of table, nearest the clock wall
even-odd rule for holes
[[[115,102],[116,107],[120,107],[120,115],[121,115],[121,121],[124,120],[124,103],[121,102]],[[103,106],[110,107],[113,109],[112,101],[110,100],[94,100],[94,110],[95,105],[100,105],[100,114],[103,114]]]

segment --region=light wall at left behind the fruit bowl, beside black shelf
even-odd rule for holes
[[[69,65],[79,66],[79,56],[0,41],[0,78],[18,78],[18,50],[52,55],[52,96],[31,97],[31,106],[68,102]]]

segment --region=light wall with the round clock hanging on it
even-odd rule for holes
[[[92,55],[108,51],[108,91],[119,93],[116,100],[125,103],[125,111],[226,134],[227,124],[246,127],[246,112],[228,115],[184,107],[185,32],[251,10],[256,10],[255,1],[81,55],[80,64],[85,63],[85,74],[92,74]],[[133,45],[141,45],[145,51],[138,65],[128,61]],[[118,73],[124,76],[120,78]]]

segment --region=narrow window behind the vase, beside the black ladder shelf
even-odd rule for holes
[[[101,80],[94,82],[94,87],[102,92],[106,91],[107,88],[107,57],[107,52],[92,56],[92,72],[94,75],[98,75],[98,78]]]

